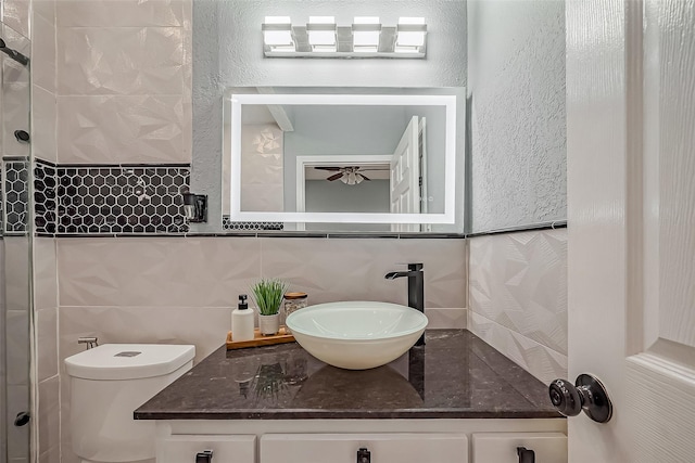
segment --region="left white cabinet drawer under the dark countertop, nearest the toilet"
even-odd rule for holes
[[[213,451],[213,463],[255,463],[256,436],[175,435],[157,442],[157,463],[195,463],[195,454]]]

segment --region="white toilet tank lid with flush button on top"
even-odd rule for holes
[[[195,346],[103,344],[65,359],[67,374],[85,380],[136,380],[169,374],[195,357]]]

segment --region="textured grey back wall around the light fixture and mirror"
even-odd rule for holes
[[[265,59],[261,24],[266,15],[306,23],[332,15],[351,24],[355,15],[425,16],[426,60]],[[218,230],[222,184],[222,95],[244,86],[298,87],[465,87],[466,2],[463,0],[230,0],[193,5],[193,169],[191,189],[207,194],[208,223]],[[198,25],[204,25],[199,27]]]

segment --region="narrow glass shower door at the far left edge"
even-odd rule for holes
[[[0,463],[18,463],[34,459],[30,42],[2,23],[0,40]]]

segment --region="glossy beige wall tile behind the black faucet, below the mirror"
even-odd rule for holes
[[[407,279],[383,276],[425,265],[425,306],[465,307],[463,240],[262,239],[263,274],[287,280],[311,304],[384,300],[407,304]]]

